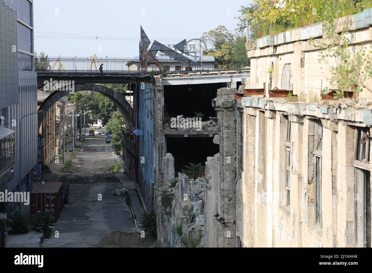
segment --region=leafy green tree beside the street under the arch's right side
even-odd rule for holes
[[[111,133],[111,146],[116,156],[122,157],[122,129],[124,128],[124,121],[119,110],[111,114],[111,118],[106,124],[106,132]]]

